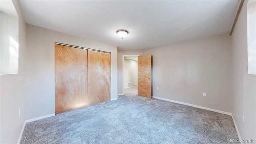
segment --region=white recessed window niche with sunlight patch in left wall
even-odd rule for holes
[[[19,23],[12,0],[0,1],[0,74],[18,74]]]

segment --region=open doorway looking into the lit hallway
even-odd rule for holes
[[[123,56],[123,95],[138,94],[138,56]]]

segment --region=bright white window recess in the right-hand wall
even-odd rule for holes
[[[248,74],[256,74],[256,0],[247,3]]]

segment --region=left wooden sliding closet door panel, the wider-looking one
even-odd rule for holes
[[[55,44],[55,114],[88,106],[87,52]]]

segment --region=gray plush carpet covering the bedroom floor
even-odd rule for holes
[[[29,122],[20,143],[224,144],[230,138],[238,139],[231,116],[126,92]]]

